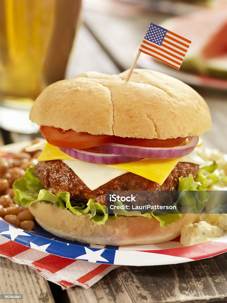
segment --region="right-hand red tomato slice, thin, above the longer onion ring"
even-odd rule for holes
[[[143,147],[174,147],[174,146],[183,145],[186,138],[159,140],[159,139],[121,138],[115,136],[113,140],[114,143],[125,144],[125,145],[135,145],[135,146],[143,146]]]

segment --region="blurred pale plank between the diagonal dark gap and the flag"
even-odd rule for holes
[[[131,67],[151,20],[159,24],[164,16],[151,13],[126,18],[87,10],[84,13],[84,21],[97,41],[123,71]]]

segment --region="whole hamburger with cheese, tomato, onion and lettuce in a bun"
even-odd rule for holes
[[[211,128],[204,99],[183,82],[135,69],[58,81],[30,112],[47,143],[15,202],[45,230],[100,245],[153,244],[180,235],[197,214],[108,214],[105,191],[204,190],[194,148]],[[206,185],[205,185],[206,184]]]

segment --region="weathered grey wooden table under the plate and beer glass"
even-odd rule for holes
[[[149,22],[160,23],[164,18],[157,13],[123,18],[85,11],[67,77],[89,70],[111,74],[130,68]],[[205,144],[227,153],[226,93],[196,90],[207,101],[212,115],[212,131],[203,136]],[[17,141],[21,137],[13,138]],[[0,267],[0,293],[24,294],[25,303],[227,302],[227,253],[178,265],[122,266],[87,290],[74,287],[62,291],[27,266],[5,258],[1,258]],[[19,302],[10,302],[14,301]]]

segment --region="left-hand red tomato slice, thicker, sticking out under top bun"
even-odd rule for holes
[[[42,125],[40,131],[48,143],[58,147],[84,149],[113,142],[113,136],[110,135],[91,135],[71,129],[65,131],[52,126]]]

